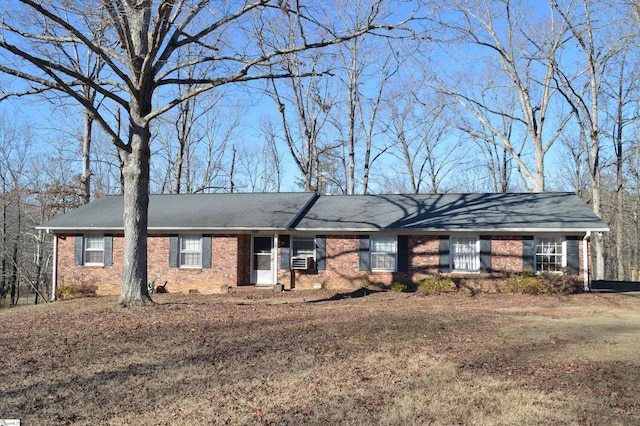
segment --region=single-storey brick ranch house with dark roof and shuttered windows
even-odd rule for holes
[[[122,197],[41,226],[56,239],[55,285],[117,294]],[[220,286],[353,289],[363,281],[423,285],[439,277],[501,282],[573,271],[588,286],[589,235],[607,226],[576,195],[155,195],[148,275],[175,292]],[[426,280],[426,281],[425,281]],[[443,281],[430,284],[434,291]]]

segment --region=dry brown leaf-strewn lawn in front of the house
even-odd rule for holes
[[[0,311],[23,424],[640,424],[640,299],[325,292]],[[305,301],[307,300],[307,301]]]

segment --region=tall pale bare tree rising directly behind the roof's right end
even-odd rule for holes
[[[478,55],[472,62],[482,74],[462,75],[457,83],[441,81],[434,87],[451,96],[493,135],[481,140],[498,144],[513,156],[527,189],[541,192],[545,190],[545,156],[571,118],[571,114],[559,116],[558,111],[550,114],[556,93],[555,60],[566,27],[553,13],[546,22],[531,19],[529,13],[520,2],[511,0],[451,2],[451,9],[441,18],[445,36]],[[436,76],[433,79],[438,81]],[[473,82],[468,84],[469,80]],[[479,81],[483,84],[478,85]],[[508,97],[517,99],[517,109],[493,102]],[[559,117],[553,129],[548,129],[554,116]],[[496,122],[513,125],[499,127]],[[516,129],[516,124],[522,129]],[[514,146],[514,136],[527,141],[533,167]]]

